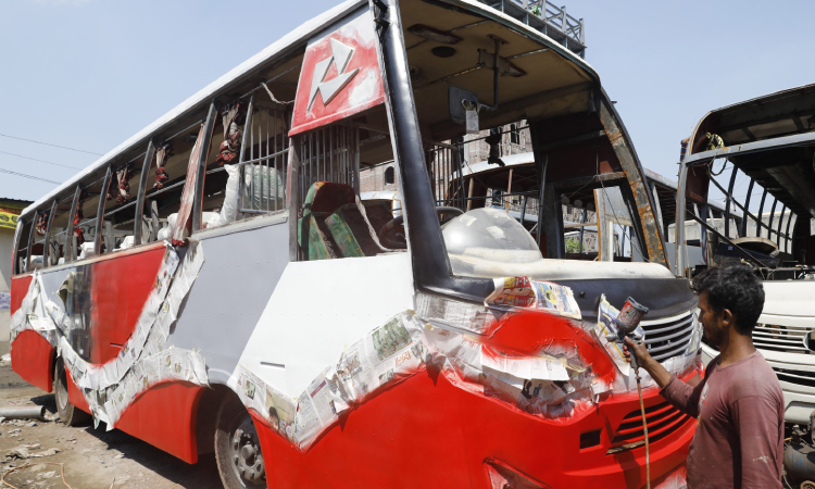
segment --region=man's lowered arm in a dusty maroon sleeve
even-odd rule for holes
[[[741,448],[741,487],[780,488],[778,408],[752,396],[734,402],[730,412]]]

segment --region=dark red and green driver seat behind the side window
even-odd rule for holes
[[[310,261],[391,251],[379,243],[354,189],[330,181],[316,181],[309,188],[303,216],[298,220],[298,244]]]

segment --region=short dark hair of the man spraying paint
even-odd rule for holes
[[[707,292],[707,302],[717,313],[730,310],[742,335],[753,331],[764,309],[764,286],[749,266],[707,268],[693,277],[691,289],[700,296]]]

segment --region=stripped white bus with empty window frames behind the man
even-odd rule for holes
[[[701,206],[716,189],[728,211],[741,213],[716,233],[703,227],[705,252],[714,264],[748,263],[764,278],[766,301],[753,343],[781,383],[786,421],[804,425],[815,410],[814,116],[814,85],[711,111],[689,139],[677,199],[677,208]],[[709,135],[719,136],[724,147],[709,149]],[[737,196],[735,183],[744,176],[747,195]],[[677,216],[691,218],[690,212]],[[679,273],[687,269],[681,260],[677,255]],[[703,353],[709,361],[716,351],[703,344]]]

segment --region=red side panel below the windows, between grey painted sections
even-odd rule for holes
[[[113,360],[130,337],[163,258],[164,246],[160,246],[89,265],[93,277],[91,363]]]

